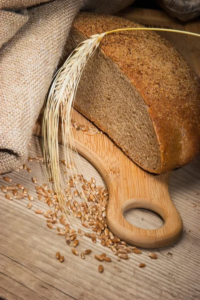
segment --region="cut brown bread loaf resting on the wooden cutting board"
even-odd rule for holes
[[[92,34],[139,26],[116,16],[80,13],[65,51],[70,54]],[[199,154],[200,79],[153,31],[105,36],[82,73],[75,108],[150,172],[182,166]]]

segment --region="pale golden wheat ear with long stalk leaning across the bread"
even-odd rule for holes
[[[110,33],[125,30],[157,30],[169,31],[200,36],[198,33],[186,32],[182,30],[163,29],[163,28],[145,28],[131,27],[120,28],[106,31],[101,34],[95,34],[88,39],[82,41],[77,48],[71,53],[63,66],[57,71],[52,79],[52,84],[46,99],[46,108],[43,120],[43,151],[46,162],[47,178],[53,178],[54,187],[58,195],[60,205],[63,210],[69,214],[70,207],[66,205],[66,195],[64,192],[64,182],[61,170],[59,167],[59,146],[58,146],[58,130],[59,130],[59,113],[62,119],[62,140],[64,145],[65,161],[70,168],[66,168],[68,181],[71,175],[74,186],[78,187],[78,180],[74,180],[73,169],[71,162],[73,161],[73,153],[75,153],[75,162],[78,172],[81,174],[82,163],[76,151],[74,137],[71,127],[71,113],[76,95],[76,90],[80,80],[82,71],[87,63],[87,60],[94,53],[102,38]],[[75,173],[76,178],[78,174]],[[50,182],[51,184],[51,182]],[[67,198],[70,195],[70,185],[68,184]],[[85,201],[85,197],[82,197]],[[71,216],[69,214],[69,216]],[[73,216],[71,216],[72,221]]]

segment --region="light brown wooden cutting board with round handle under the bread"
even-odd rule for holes
[[[42,136],[40,114],[34,134]],[[73,119],[94,127],[74,109]],[[110,230],[128,244],[142,248],[158,248],[175,241],[182,230],[182,220],[168,192],[169,173],[154,175],[137,166],[106,135],[87,135],[73,128],[78,152],[101,173],[108,188],[106,219]],[[59,142],[62,143],[61,123]],[[130,208],[146,208],[158,213],[164,225],[158,229],[143,229],[130,224],[123,212]]]

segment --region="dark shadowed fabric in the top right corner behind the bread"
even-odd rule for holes
[[[200,0],[157,0],[157,2],[172,17],[181,21],[200,15]]]

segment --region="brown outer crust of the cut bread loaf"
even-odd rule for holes
[[[93,13],[80,13],[73,24],[86,37],[140,26],[120,17]],[[182,55],[152,31],[109,34],[101,41],[100,48],[132,82],[148,106],[161,162],[154,169],[145,169],[161,173],[192,161],[200,150],[200,79]],[[100,127],[104,129],[103,124]]]

